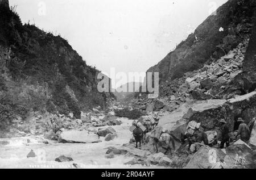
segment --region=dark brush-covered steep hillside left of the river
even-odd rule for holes
[[[99,71],[86,65],[67,40],[34,25],[23,25],[18,14],[3,4],[0,68],[1,123],[24,119],[31,111],[73,112],[80,118],[81,110],[105,108],[113,97],[98,93]]]

